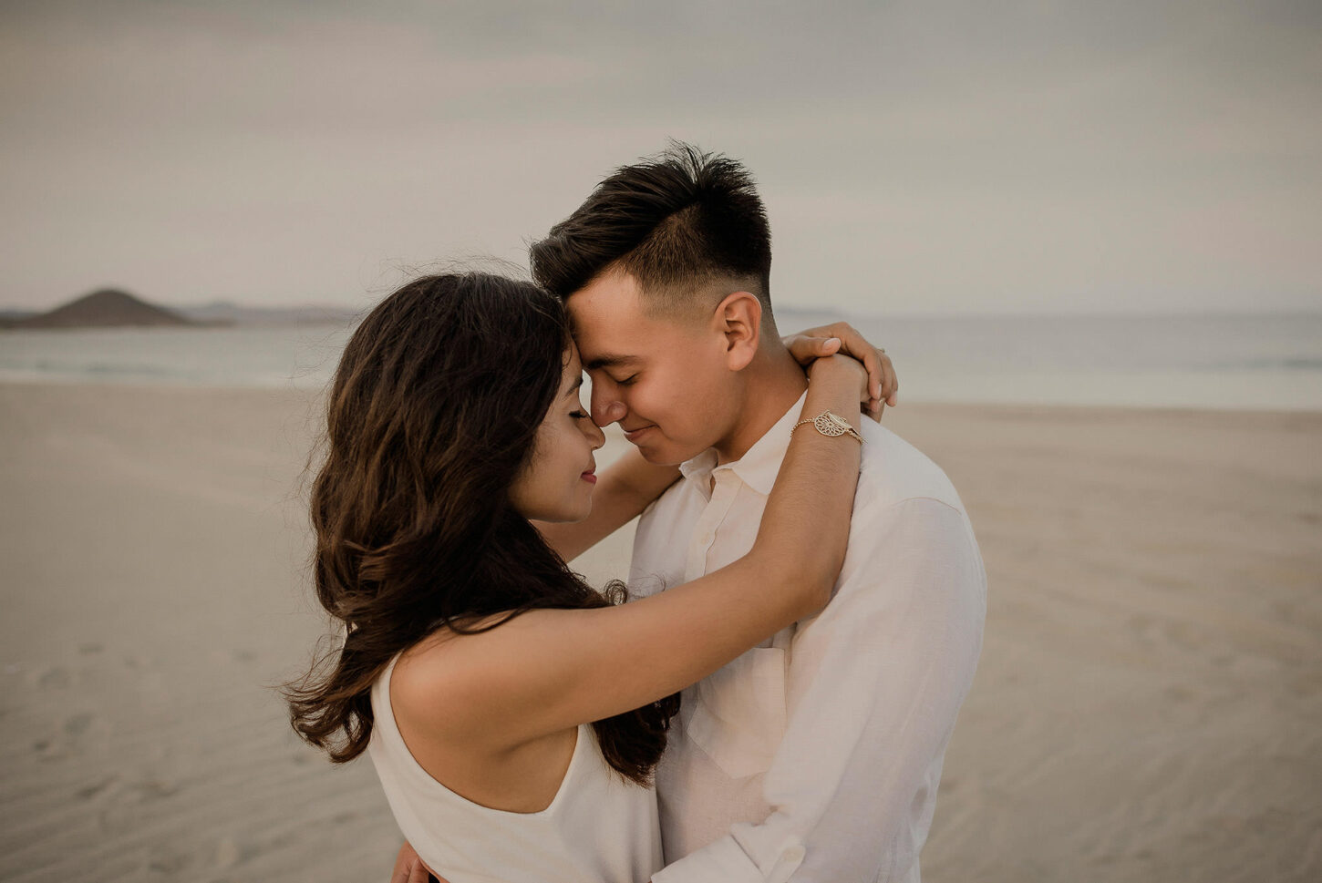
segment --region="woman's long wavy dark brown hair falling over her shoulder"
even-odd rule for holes
[[[317,600],[344,642],[286,685],[293,730],[330,760],[366,749],[373,682],[436,629],[623,600],[623,584],[592,590],[509,504],[568,341],[558,299],[476,272],[410,282],[349,340],[311,504]],[[669,697],[595,722],[605,760],[648,781],[677,710]]]

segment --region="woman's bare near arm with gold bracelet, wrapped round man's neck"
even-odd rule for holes
[[[802,419],[858,426],[866,373],[814,362]],[[845,559],[859,444],[795,432],[752,550],[691,583],[620,607],[531,611],[480,634],[440,634],[395,682],[442,740],[517,747],[660,699],[826,604]],[[397,669],[398,672],[399,669]]]

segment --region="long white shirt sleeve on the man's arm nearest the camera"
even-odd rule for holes
[[[837,594],[792,644],[785,735],[763,779],[771,816],[654,883],[915,879],[985,616],[960,510],[928,498],[855,510]]]

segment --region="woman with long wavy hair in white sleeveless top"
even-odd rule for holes
[[[857,426],[867,371],[809,374],[804,416]],[[451,883],[648,879],[674,694],[820,609],[843,560],[858,447],[809,427],[747,557],[628,605],[590,588],[531,523],[592,508],[604,436],[580,383],[559,301],[472,274],[387,297],[330,391],[315,575],[345,636],[291,687],[291,718],[334,761],[370,747]],[[646,498],[672,477],[639,468]]]

